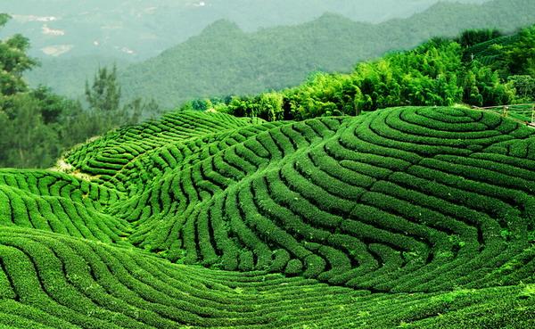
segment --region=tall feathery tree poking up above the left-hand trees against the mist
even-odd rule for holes
[[[91,87],[86,81],[86,100],[91,109],[96,111],[114,111],[119,109],[120,86],[117,82],[117,66],[111,70],[99,68]]]

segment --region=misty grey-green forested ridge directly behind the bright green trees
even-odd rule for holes
[[[513,30],[533,23],[535,2],[495,0],[435,4],[408,19],[381,24],[327,13],[299,26],[243,32],[218,21],[197,37],[120,74],[126,98],[152,96],[166,107],[192,97],[252,94],[298,84],[311,72],[350,71],[356,62],[408,49],[463,29]]]

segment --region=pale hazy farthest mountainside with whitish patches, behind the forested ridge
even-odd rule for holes
[[[442,0],[443,1],[443,0]],[[448,0],[481,3],[485,0]],[[3,0],[6,33],[30,38],[30,54],[142,60],[184,42],[213,21],[241,29],[299,24],[324,12],[354,21],[385,21],[421,12],[438,0]]]

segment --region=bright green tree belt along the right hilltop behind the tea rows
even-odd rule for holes
[[[197,99],[182,109],[213,108],[236,116],[279,120],[358,115],[403,105],[491,106],[533,101],[535,26],[509,37],[494,29],[467,30],[455,39],[433,38],[412,51],[359,63],[350,74],[318,72],[304,84],[282,92]]]

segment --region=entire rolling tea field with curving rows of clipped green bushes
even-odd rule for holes
[[[182,112],[0,169],[0,327],[529,328],[535,130]]]

